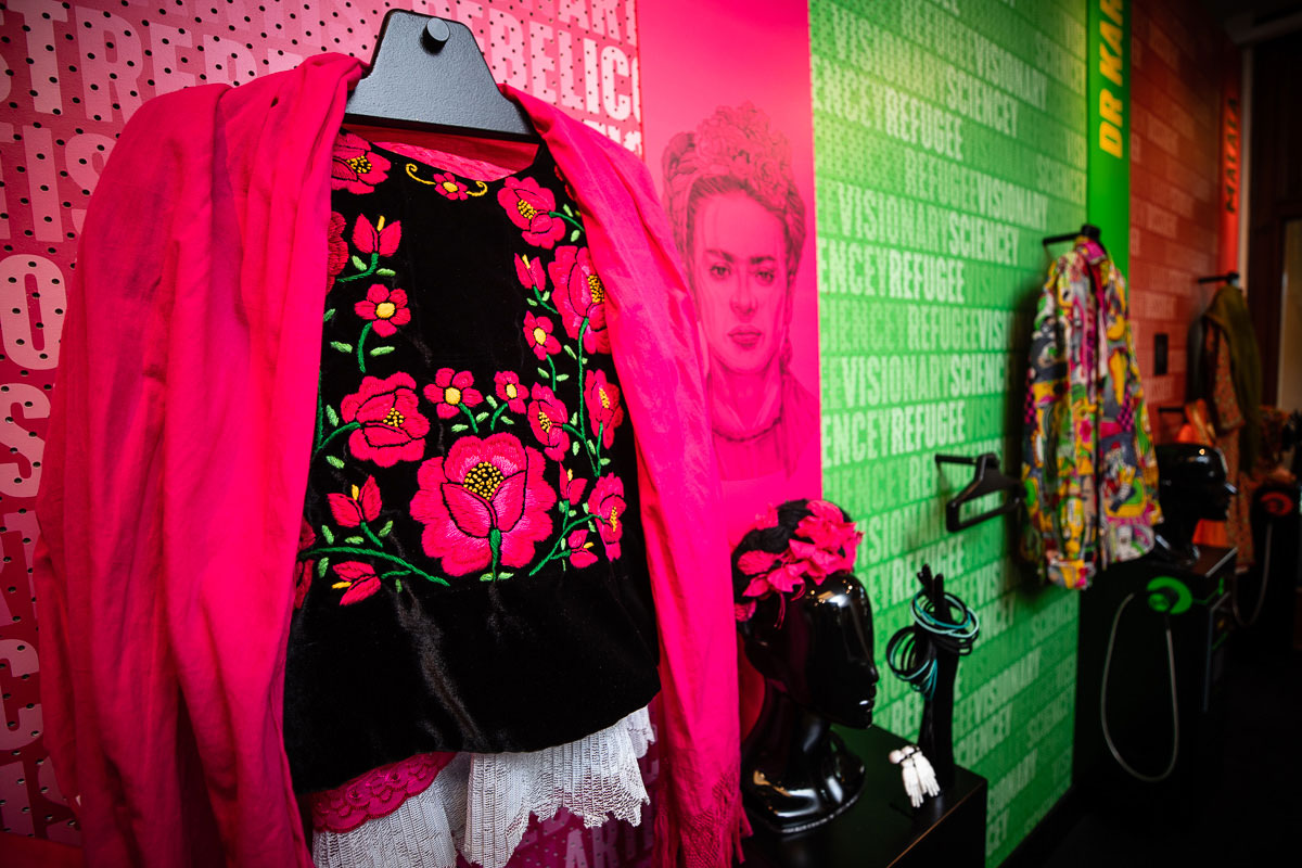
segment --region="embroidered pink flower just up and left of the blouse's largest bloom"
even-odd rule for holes
[[[349,449],[380,467],[421,461],[430,420],[417,413],[418,406],[415,381],[409,375],[363,377],[362,387],[340,402],[344,422],[359,426],[348,437]]]

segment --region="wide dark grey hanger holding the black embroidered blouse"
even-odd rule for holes
[[[393,9],[344,122],[535,142],[525,111],[497,90],[470,29]]]

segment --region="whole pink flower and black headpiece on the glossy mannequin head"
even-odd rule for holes
[[[845,510],[831,501],[769,506],[733,550],[737,621],[750,621],[764,600],[776,597],[775,626],[781,626],[788,600],[799,599],[829,575],[854,571],[862,539]]]

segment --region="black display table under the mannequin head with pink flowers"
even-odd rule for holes
[[[865,765],[865,787],[849,811],[824,826],[776,835],[751,820],[747,868],[982,868],[986,864],[986,778],[958,768],[954,786],[921,808],[909,804],[900,766],[887,756],[905,740],[881,729],[837,730]]]

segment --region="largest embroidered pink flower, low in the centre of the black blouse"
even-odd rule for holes
[[[456,440],[447,457],[417,471],[421,491],[411,517],[424,524],[426,554],[450,575],[475,573],[496,561],[522,567],[552,532],[548,510],[556,492],[543,481],[547,462],[514,435]]]

